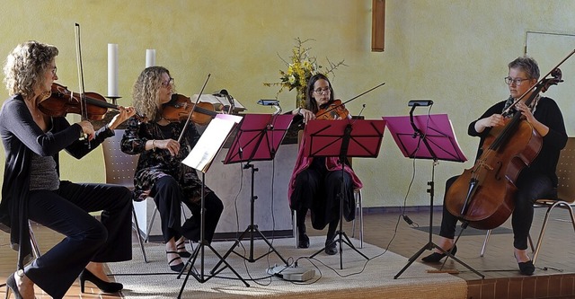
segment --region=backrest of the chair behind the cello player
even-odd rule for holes
[[[557,163],[557,198],[568,203],[575,202],[575,137],[567,139]]]

